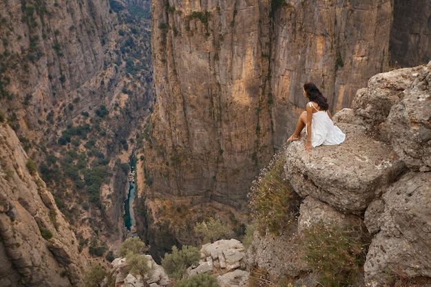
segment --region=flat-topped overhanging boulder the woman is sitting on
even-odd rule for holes
[[[364,127],[338,125],[346,134],[341,145],[304,152],[304,135],[287,147],[286,178],[302,197],[311,195],[339,211],[360,214],[403,171],[403,164],[390,145],[367,136]]]

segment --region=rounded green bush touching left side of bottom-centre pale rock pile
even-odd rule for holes
[[[182,246],[179,251],[176,246],[172,246],[172,253],[165,253],[162,258],[162,267],[169,277],[179,280],[184,275],[189,266],[199,263],[200,251],[193,246]]]

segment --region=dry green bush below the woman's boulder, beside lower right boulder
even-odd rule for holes
[[[326,287],[349,286],[366,255],[361,235],[353,226],[317,222],[304,232],[304,244],[306,262]]]

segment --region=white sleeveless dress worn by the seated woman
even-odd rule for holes
[[[313,103],[309,102],[310,107],[314,107]],[[311,120],[311,145],[318,147],[319,145],[339,145],[344,142],[346,135],[334,125],[326,111],[316,109]]]

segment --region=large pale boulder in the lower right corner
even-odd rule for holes
[[[393,183],[364,222],[376,233],[364,266],[368,286],[382,286],[388,275],[431,277],[431,173],[410,172]]]

